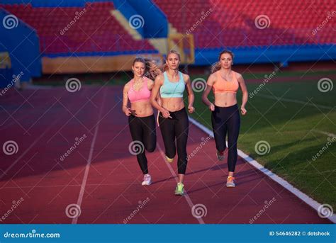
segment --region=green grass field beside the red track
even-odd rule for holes
[[[325,77],[330,73],[335,74],[326,72]],[[296,75],[301,73],[282,74],[282,77]],[[257,74],[257,77],[263,78],[264,74]],[[250,78],[256,77],[252,74]],[[247,80],[249,94],[257,86],[259,84],[249,84]],[[196,113],[192,117],[211,128],[211,113],[201,102],[201,93],[195,96]],[[213,98],[211,96],[212,93],[209,98]],[[274,96],[282,99],[278,101]],[[240,104],[240,91],[237,99]],[[330,136],[323,134],[336,134],[335,101],[336,88],[320,92],[318,79],[314,77],[301,82],[269,81],[256,96],[249,98],[247,115],[241,116],[238,148],[319,203],[336,208],[336,140],[327,145]],[[264,155],[257,154],[254,149],[261,140],[270,145],[269,153]],[[325,146],[327,149],[320,157],[313,159]]]

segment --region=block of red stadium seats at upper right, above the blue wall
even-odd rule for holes
[[[197,48],[240,46],[240,45],[291,45],[302,44],[307,41],[303,30],[310,33],[324,19],[318,16],[327,16],[333,0],[326,0],[313,6],[308,1],[185,1],[185,6],[179,0],[153,0],[164,13],[169,23],[180,33],[185,33],[198,21],[202,12],[213,9],[211,13],[192,32],[195,36]],[[318,6],[318,7],[316,7]],[[320,14],[317,14],[320,13]],[[270,21],[265,29],[256,28],[254,20],[257,16],[267,15]],[[309,16],[309,21],[307,21]],[[335,21],[328,23],[335,29]],[[333,26],[332,26],[333,25]],[[223,31],[223,33],[220,33]],[[307,32],[307,31],[306,31]],[[213,36],[220,36],[217,41]],[[310,36],[318,43],[335,43],[333,31],[321,30],[318,35]],[[246,35],[246,38],[245,38]],[[326,38],[326,36],[330,36]],[[311,42],[312,40],[310,40]]]

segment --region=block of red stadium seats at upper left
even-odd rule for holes
[[[38,31],[40,48],[45,54],[155,50],[147,40],[134,40],[111,16],[110,10],[114,9],[112,2],[87,3],[86,12],[68,30],[65,28],[76,14],[83,11],[82,7],[32,8],[31,4],[0,6]]]

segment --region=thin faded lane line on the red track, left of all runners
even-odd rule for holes
[[[94,138],[92,139],[92,142],[91,142],[89,157],[87,158],[87,163],[86,163],[86,166],[85,166],[81,191],[79,191],[79,196],[78,196],[78,200],[77,200],[77,205],[79,206],[79,208],[81,208],[81,205],[82,205],[82,200],[83,200],[83,196],[84,196],[86,181],[87,181],[87,177],[89,176],[89,170],[90,170],[92,155],[94,154],[94,144],[96,143],[96,137],[97,137],[98,130],[99,130],[99,125],[100,125],[100,122],[101,122],[101,120],[100,120],[101,119],[101,113],[103,112],[103,105],[105,103],[105,94],[106,94],[106,91],[104,90],[103,102],[101,103],[101,108],[100,108],[99,115],[98,115],[98,124],[96,125],[96,128],[94,129]],[[78,217],[79,216],[74,217],[72,219],[72,224],[77,224]]]

